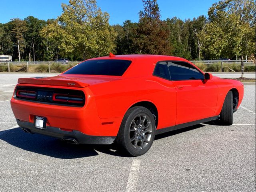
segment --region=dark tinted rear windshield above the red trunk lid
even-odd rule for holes
[[[128,60],[88,60],[74,66],[64,74],[122,76],[130,64],[131,61]]]

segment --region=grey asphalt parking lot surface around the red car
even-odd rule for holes
[[[10,98],[19,77],[33,76],[46,75],[0,74],[1,191],[255,191],[255,83],[232,126],[160,134],[130,158],[115,144],[72,145],[18,128]]]

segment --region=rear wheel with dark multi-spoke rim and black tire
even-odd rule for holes
[[[130,156],[140,156],[150,149],[155,134],[155,120],[150,110],[142,106],[135,106],[124,115],[116,142]]]

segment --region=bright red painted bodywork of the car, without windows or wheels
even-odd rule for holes
[[[138,102],[156,106],[157,130],[160,130],[218,116],[231,89],[238,91],[238,106],[244,95],[244,86],[236,80],[213,77],[210,80],[172,81],[153,75],[156,63],[160,61],[184,61],[194,66],[178,57],[123,55],[91,60],[98,59],[130,60],[132,63],[122,76],[60,74],[47,78],[20,78],[17,86],[81,90],[86,99],[82,107],[58,106],[19,100],[14,92],[11,107],[15,118],[33,123],[34,116],[42,116],[47,118],[47,126],[60,130],[78,130],[90,136],[116,136],[124,114]]]

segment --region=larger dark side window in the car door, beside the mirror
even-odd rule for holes
[[[172,80],[204,79],[204,75],[194,66],[185,62],[167,62]]]

